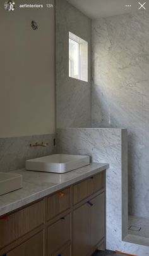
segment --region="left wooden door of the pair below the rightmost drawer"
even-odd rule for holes
[[[85,203],[73,213],[73,256],[85,256],[90,250],[90,206]]]

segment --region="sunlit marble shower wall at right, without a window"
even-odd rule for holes
[[[128,128],[129,213],[149,217],[149,11],[92,21],[92,127]]]

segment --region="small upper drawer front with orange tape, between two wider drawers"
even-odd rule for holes
[[[47,220],[70,208],[70,188],[56,192],[47,199]]]

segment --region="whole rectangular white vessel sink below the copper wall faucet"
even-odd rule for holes
[[[90,164],[90,156],[52,154],[26,161],[26,170],[65,173]]]

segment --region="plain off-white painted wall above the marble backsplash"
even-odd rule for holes
[[[45,0],[36,1],[44,4],[40,10],[20,3],[11,13],[0,3],[0,137],[55,131],[54,8]]]

